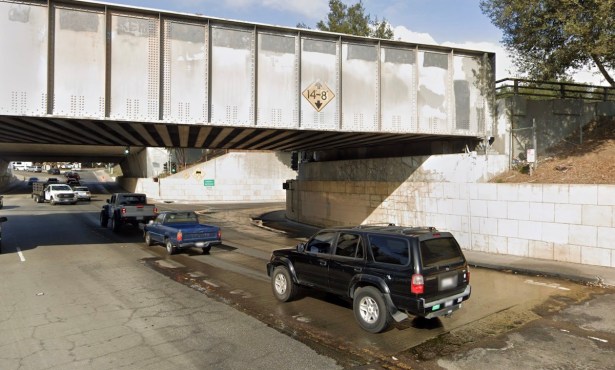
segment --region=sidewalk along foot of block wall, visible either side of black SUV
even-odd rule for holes
[[[300,224],[286,218],[284,211],[269,212],[258,217],[263,227],[284,231],[296,237],[308,238],[318,227]],[[584,284],[615,286],[615,268],[578,263],[543,260],[538,258],[493,254],[464,250],[470,266],[501,271],[515,271],[528,275],[553,276]]]

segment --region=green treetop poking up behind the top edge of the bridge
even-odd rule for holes
[[[341,0],[329,0],[327,21],[319,21],[316,28],[321,31],[389,40],[394,36],[386,19],[382,21],[378,21],[378,18],[372,20],[369,14],[365,14],[365,8],[361,1],[352,6],[347,6]]]

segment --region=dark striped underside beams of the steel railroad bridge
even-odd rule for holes
[[[403,145],[426,141],[472,141],[454,135],[330,132],[271,128],[174,125],[150,122],[58,117],[0,116],[0,155],[34,153],[50,146],[83,148],[101,156],[122,156],[126,146],[274,151],[329,151]],[[24,150],[18,150],[21,145]],[[27,149],[26,149],[27,148]],[[95,149],[98,148],[98,149]],[[106,148],[106,149],[105,149]],[[67,149],[70,152],[70,149]]]

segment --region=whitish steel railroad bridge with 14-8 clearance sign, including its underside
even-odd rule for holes
[[[0,0],[0,158],[479,140],[495,55],[72,0]]]

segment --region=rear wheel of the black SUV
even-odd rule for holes
[[[380,333],[389,327],[391,315],[378,289],[371,286],[357,289],[352,306],[359,326],[366,331]]]

